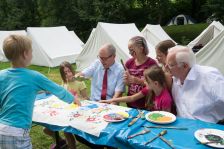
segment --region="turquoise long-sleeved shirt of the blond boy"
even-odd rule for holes
[[[71,103],[74,100],[63,87],[44,75],[26,68],[9,68],[0,71],[0,123],[30,128],[35,97],[46,90]]]

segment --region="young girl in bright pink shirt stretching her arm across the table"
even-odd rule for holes
[[[147,86],[140,92],[132,96],[113,98],[100,102],[133,102],[136,100],[141,100],[143,97],[147,97],[145,109],[150,111],[162,110],[171,112],[173,101],[168,89],[166,88],[165,75],[162,68],[156,65],[151,66],[149,69],[144,71],[144,78],[147,82]]]

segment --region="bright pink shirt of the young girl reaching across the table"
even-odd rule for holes
[[[141,93],[143,95],[147,95],[149,92],[149,89],[147,87],[143,88],[141,90]],[[171,109],[173,104],[172,97],[170,95],[170,92],[168,91],[167,88],[164,88],[160,95],[155,96],[154,98],[154,107],[150,109],[151,111],[160,111],[163,109]]]

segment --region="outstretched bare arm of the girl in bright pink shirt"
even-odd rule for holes
[[[101,103],[112,103],[112,102],[133,102],[138,99],[141,99],[145,97],[145,95],[142,94],[142,92],[138,92],[132,96],[124,96],[124,97],[119,97],[119,98],[112,98],[110,100],[101,100]]]

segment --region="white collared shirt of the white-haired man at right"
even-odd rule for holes
[[[216,68],[193,66],[183,85],[174,77],[172,95],[180,117],[212,123],[224,119],[224,76]]]

